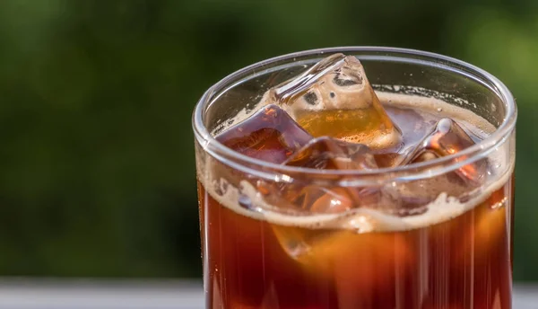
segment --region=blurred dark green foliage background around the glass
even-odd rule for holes
[[[0,1],[0,275],[200,277],[191,111],[301,49],[458,57],[519,106],[517,280],[538,279],[538,2]]]

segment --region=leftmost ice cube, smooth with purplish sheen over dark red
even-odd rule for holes
[[[271,163],[284,162],[312,138],[286,111],[274,104],[264,106],[216,137],[241,154]]]

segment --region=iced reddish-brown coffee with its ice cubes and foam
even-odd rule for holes
[[[513,134],[368,72],[334,53],[198,140],[207,308],[511,308]]]

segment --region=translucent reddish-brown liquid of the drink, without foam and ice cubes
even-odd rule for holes
[[[406,146],[442,116],[386,110]],[[206,307],[511,308],[513,185],[510,177],[482,203],[442,223],[357,234],[243,216],[199,182]],[[308,254],[293,256],[282,235],[316,241]]]

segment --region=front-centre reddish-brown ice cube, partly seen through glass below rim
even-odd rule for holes
[[[318,137],[308,142],[282,164],[314,169],[365,170],[376,169],[376,157],[368,146],[351,144],[333,137]],[[321,180],[337,180],[341,176],[327,173]],[[314,182],[312,184],[311,182]],[[314,213],[337,213],[352,207],[372,204],[377,190],[342,188],[317,184],[311,179],[292,183],[258,183],[260,192],[273,205]]]

